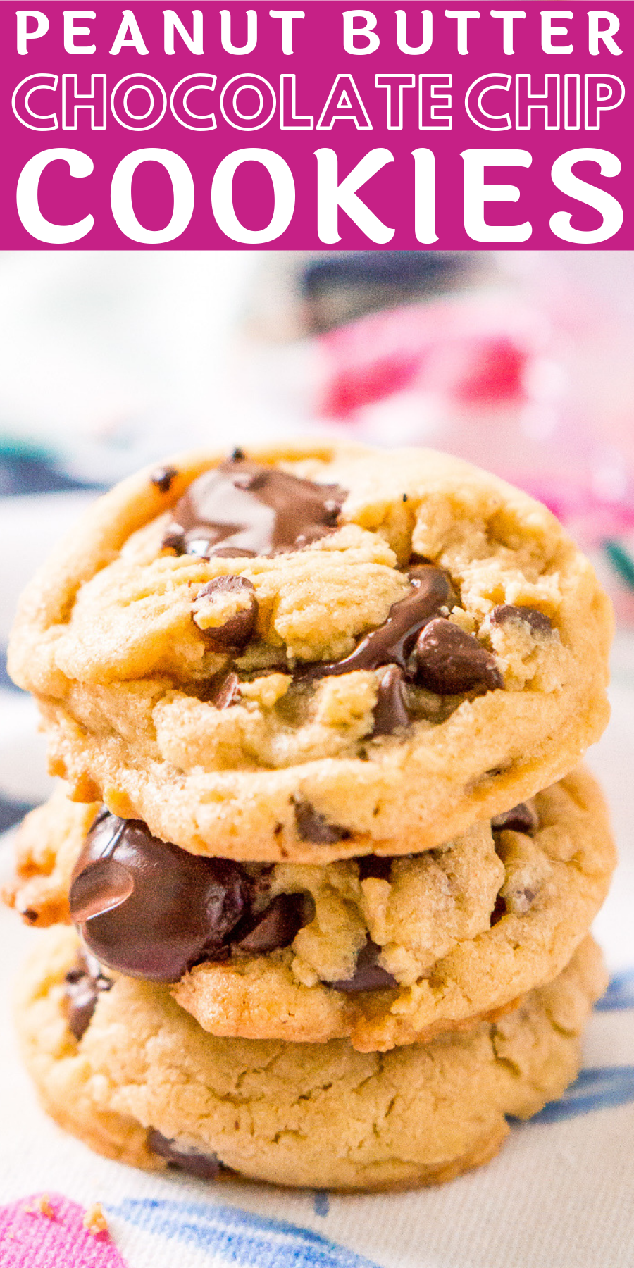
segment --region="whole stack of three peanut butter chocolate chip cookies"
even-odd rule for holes
[[[454,458],[188,454],[98,501],[10,649],[61,781],[6,898],[48,1112],[148,1168],[448,1179],[576,1077],[614,867],[610,606]]]

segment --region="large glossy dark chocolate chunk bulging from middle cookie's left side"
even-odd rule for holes
[[[228,954],[250,893],[238,864],[191,855],[139,819],[107,813],[86,837],[70,907],[100,961],[132,978],[178,981],[197,961]]]

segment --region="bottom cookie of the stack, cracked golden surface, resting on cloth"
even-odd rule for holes
[[[497,1022],[358,1052],[347,1040],[218,1038],[166,987],[117,975],[90,1014],[77,948],[72,929],[42,935],[19,989],[24,1059],[52,1117],[138,1167],[301,1187],[432,1184],[487,1161],[506,1116],[531,1117],[576,1077],[579,1035],[605,989],[586,938],[559,978]],[[77,1025],[70,994],[76,1004],[80,988]],[[70,1019],[85,1026],[80,1040]]]

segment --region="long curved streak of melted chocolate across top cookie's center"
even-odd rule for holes
[[[392,604],[384,625],[366,634],[350,656],[344,661],[307,666],[299,676],[325,678],[353,670],[379,670],[382,664],[406,670],[417,634],[451,598],[446,573],[432,564],[412,568],[410,582],[410,593]]]

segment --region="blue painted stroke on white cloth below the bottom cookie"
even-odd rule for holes
[[[147,1232],[204,1246],[243,1268],[379,1268],[320,1232],[235,1206],[126,1198],[108,1212]]]

